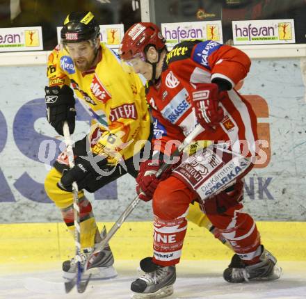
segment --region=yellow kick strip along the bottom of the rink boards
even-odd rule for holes
[[[98,223],[102,228],[102,223]],[[113,223],[106,223],[109,230]],[[261,240],[280,260],[306,260],[306,223],[257,222]],[[129,222],[111,239],[115,259],[152,255],[152,223]],[[74,241],[63,223],[0,225],[0,263],[63,261],[74,255]],[[188,223],[183,259],[230,259],[232,252],[207,229]]]

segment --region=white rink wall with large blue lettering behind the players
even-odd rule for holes
[[[245,208],[257,220],[306,220],[304,67],[304,58],[254,58],[240,90],[268,104],[268,117],[258,121],[268,128],[271,159],[245,179]],[[0,223],[61,222],[43,187],[48,167],[39,161],[40,146],[51,143],[57,153],[61,142],[45,118],[46,84],[43,65],[0,67]],[[74,140],[86,134],[88,120],[78,103]],[[50,163],[56,153],[40,160]],[[134,185],[125,175],[88,195],[97,220],[116,220],[135,197]],[[150,203],[143,202],[129,217],[151,219]]]

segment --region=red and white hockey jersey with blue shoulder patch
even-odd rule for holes
[[[166,54],[161,80],[147,86],[147,102],[154,117],[154,141],[161,140],[161,151],[165,151],[168,140],[184,140],[198,123],[191,105],[195,84],[220,78],[232,85],[220,101],[225,117],[216,131],[204,131],[196,139],[230,141],[234,152],[255,156],[257,119],[250,104],[234,89],[249,70],[250,59],[243,51],[212,40],[182,42]]]

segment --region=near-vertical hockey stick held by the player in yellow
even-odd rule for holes
[[[72,139],[70,137],[70,131],[67,122],[64,122],[63,124],[63,134],[65,138],[65,143],[67,146],[67,156],[68,156],[68,162],[69,167],[74,167],[74,154],[72,150]],[[77,185],[77,182],[74,181],[72,183],[72,192],[73,192],[73,213],[74,213],[74,243],[75,243],[75,255],[76,258],[79,257],[79,254],[81,254],[81,226],[80,226],[80,207],[79,207],[79,188]],[[89,281],[89,277],[86,282],[82,282],[82,273],[83,273],[83,267],[81,266],[81,261],[77,261],[77,275],[74,277],[75,282],[65,282],[65,290],[66,293],[69,293],[71,289],[74,287],[74,284],[77,284],[77,289],[79,291],[79,288],[83,289],[83,284],[87,284]],[[85,286],[86,287],[86,286]]]

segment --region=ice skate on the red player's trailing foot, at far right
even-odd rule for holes
[[[277,266],[273,255],[261,245],[259,262],[247,266],[237,254],[232,257],[231,264],[223,272],[227,282],[248,282],[259,280],[277,280],[282,274],[282,268]]]

